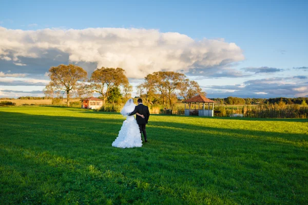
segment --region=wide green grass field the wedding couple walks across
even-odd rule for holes
[[[142,148],[120,114],[0,108],[0,204],[307,204],[308,120],[152,115]]]

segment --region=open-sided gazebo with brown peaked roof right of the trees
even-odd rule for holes
[[[214,116],[214,103],[215,101],[208,99],[204,97],[203,95],[197,95],[195,97],[192,97],[190,99],[186,99],[183,101],[185,103],[185,115],[199,115],[199,116],[209,116],[213,117]],[[186,109],[186,103],[188,103],[188,109]],[[205,110],[205,104],[208,104],[208,110]],[[195,104],[195,108],[191,104]],[[198,104],[198,109],[196,108],[196,104]],[[201,109],[200,109],[200,104],[201,104]],[[210,104],[213,104],[212,109],[209,109]]]

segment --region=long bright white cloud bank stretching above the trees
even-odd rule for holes
[[[44,52],[56,49],[67,53],[71,63],[95,63],[98,68],[121,67],[128,77],[134,78],[161,70],[188,72],[195,68],[220,67],[244,59],[240,47],[223,39],[196,41],[184,34],[153,29],[23,31],[0,27],[0,36],[0,55],[9,53],[15,65],[26,65],[20,61],[22,57],[40,58]]]

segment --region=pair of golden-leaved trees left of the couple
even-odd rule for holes
[[[129,97],[129,92],[132,91],[125,71],[121,68],[102,67],[95,70],[90,79],[87,75],[83,68],[72,64],[51,67],[49,69],[50,83],[44,89],[45,96],[53,98],[65,95],[67,106],[69,106],[71,97],[76,95],[86,97],[97,92],[101,94],[105,103],[111,91],[119,93],[120,86],[123,87],[125,98]]]

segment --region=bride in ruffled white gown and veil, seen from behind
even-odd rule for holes
[[[120,113],[126,117],[126,120],[123,122],[117,139],[112,142],[112,147],[133,148],[142,146],[141,134],[137,121],[133,115],[128,116],[129,113],[134,110],[135,106],[133,99],[130,98],[121,110]],[[139,113],[136,114],[144,118],[143,115],[140,115]]]

